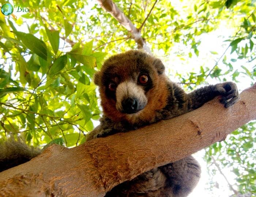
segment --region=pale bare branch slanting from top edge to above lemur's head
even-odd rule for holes
[[[109,12],[125,29],[127,29],[132,38],[138,44],[138,48],[143,48],[144,51],[151,54],[150,48],[147,47],[146,42],[142,38],[139,29],[137,29],[123,12],[113,3],[112,0],[97,0],[99,5]]]

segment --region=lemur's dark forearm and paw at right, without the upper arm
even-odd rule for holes
[[[240,98],[237,86],[233,82],[224,82],[202,87],[187,95],[191,100],[191,106],[189,106],[190,109],[188,108],[189,111],[201,107],[215,96],[222,95],[220,102],[224,104],[224,107],[226,108],[233,105]]]

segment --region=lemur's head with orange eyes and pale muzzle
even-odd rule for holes
[[[103,113],[113,121],[150,121],[166,105],[165,67],[142,51],[110,57],[94,76]]]

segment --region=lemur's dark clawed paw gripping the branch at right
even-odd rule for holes
[[[240,98],[237,86],[233,82],[219,83],[216,86],[217,91],[222,95],[220,102],[227,108],[238,101]]]

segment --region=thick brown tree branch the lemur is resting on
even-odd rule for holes
[[[225,109],[219,97],[197,110],[67,149],[52,145],[0,173],[0,196],[104,196],[117,184],[222,141],[256,119],[256,84]]]

